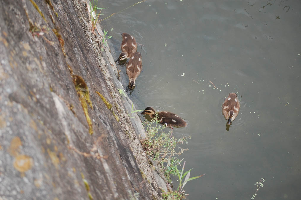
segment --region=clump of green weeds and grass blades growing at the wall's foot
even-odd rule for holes
[[[158,161],[160,164],[160,169],[165,171],[165,177],[168,179],[168,183],[172,183],[170,179],[170,175],[178,177],[178,188],[174,191],[162,192],[161,195],[165,199],[171,200],[179,200],[182,199],[185,194],[185,190],[183,190],[184,186],[188,181],[197,179],[203,175],[191,177],[190,178],[190,170],[184,172],[185,162],[182,166],[182,170],[178,170],[178,166],[181,166],[181,162],[176,156],[181,155],[184,150],[182,147],[178,146],[180,143],[186,142],[191,139],[191,137],[182,137],[180,139],[176,139],[171,136],[171,131],[168,133],[164,132],[163,129],[166,125],[160,126],[158,120],[158,114],[155,114],[155,117],[149,121],[144,121],[143,125],[146,128],[146,137],[141,139],[140,142],[144,149],[144,152],[148,155],[151,155],[154,160]],[[160,132],[160,133],[159,133]],[[178,147],[178,151],[175,148]]]

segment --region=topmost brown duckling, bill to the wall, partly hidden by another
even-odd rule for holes
[[[122,42],[120,45],[121,48],[121,54],[119,55],[119,58],[115,61],[121,61],[124,59],[128,59],[137,51],[137,43],[135,38],[128,34],[128,33],[122,33]]]

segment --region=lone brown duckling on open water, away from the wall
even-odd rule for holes
[[[222,105],[222,112],[224,117],[228,120],[227,124],[230,125],[239,112],[239,101],[236,93],[230,93]]]

